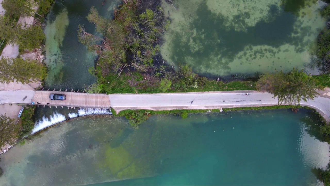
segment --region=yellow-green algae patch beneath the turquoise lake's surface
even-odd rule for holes
[[[133,156],[122,145],[113,148],[105,147],[104,160],[99,163],[102,169],[110,171],[118,179],[137,178],[141,176]]]

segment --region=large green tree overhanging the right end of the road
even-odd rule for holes
[[[319,95],[316,90],[323,89],[316,85],[311,75],[295,68],[289,73],[278,71],[275,74],[261,75],[256,87],[263,92],[274,94],[274,97],[278,97],[279,104],[289,105],[299,105],[300,101],[313,100]]]

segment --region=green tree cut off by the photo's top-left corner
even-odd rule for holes
[[[19,18],[34,16],[37,3],[32,0],[3,0],[2,7],[10,17]]]

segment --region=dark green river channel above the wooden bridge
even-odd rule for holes
[[[44,31],[48,68],[45,88],[77,91],[95,81],[88,68],[94,68],[96,55],[87,52],[86,46],[78,41],[78,24],[84,25],[87,32],[97,34],[95,25],[86,18],[91,6],[96,7],[101,16],[111,18],[113,7],[119,2],[108,0],[102,6],[102,0],[55,0]]]

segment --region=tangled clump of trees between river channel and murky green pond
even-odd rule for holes
[[[96,51],[100,58],[105,59],[106,63],[100,63],[103,71],[111,69],[117,71],[118,76],[124,68],[150,71],[152,57],[161,42],[159,35],[165,32],[169,24],[160,6],[157,6],[155,11],[146,9],[139,17],[127,15],[124,20],[103,18],[97,9],[92,7],[87,19],[95,24],[96,30],[104,37],[90,34],[85,31],[83,25],[79,25],[79,41],[86,45],[88,50]]]

